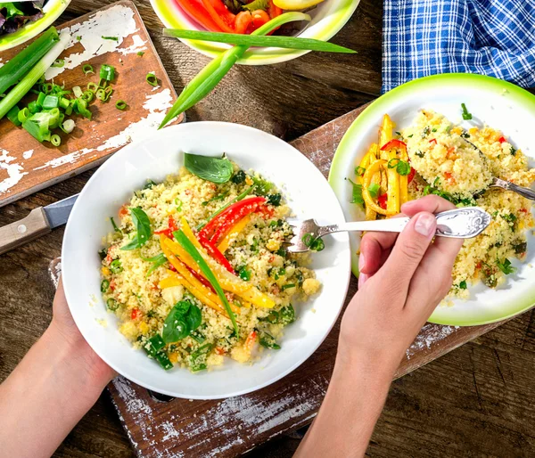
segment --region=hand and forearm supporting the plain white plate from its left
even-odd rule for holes
[[[60,282],[52,323],[0,385],[0,456],[51,456],[114,375],[78,331]]]

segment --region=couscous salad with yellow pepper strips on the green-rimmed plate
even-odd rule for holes
[[[462,107],[463,118],[471,113]],[[492,216],[490,226],[466,240],[453,269],[450,297],[467,299],[467,287],[482,281],[490,288],[505,282],[515,269],[512,258],[525,258],[526,230],[533,227],[531,200],[490,188],[496,176],[530,186],[535,169],[522,151],[491,127],[465,130],[431,110],[422,110],[402,132],[384,115],[379,141],[357,164],[353,203],[363,205],[366,219],[392,217],[407,200],[438,194],[457,207],[479,206]]]

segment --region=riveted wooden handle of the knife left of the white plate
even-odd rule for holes
[[[0,227],[0,255],[51,231],[43,207],[33,209],[28,217]]]

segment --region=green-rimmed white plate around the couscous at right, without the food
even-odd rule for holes
[[[472,121],[463,121],[461,103],[473,113]],[[413,122],[418,110],[431,109],[466,127],[487,124],[504,132],[514,147],[524,151],[535,162],[535,95],[497,78],[453,73],[416,79],[373,102],[351,125],[334,155],[329,183],[342,203],[348,221],[364,219],[359,206],[351,204],[351,184],[345,178],[354,176],[371,143],[377,142],[377,131],[383,115],[388,113],[403,129]],[[533,165],[531,164],[531,167]],[[358,275],[358,233],[350,235],[353,274]],[[473,286],[471,299],[455,300],[453,306],[435,309],[432,323],[458,326],[493,323],[521,314],[535,305],[535,240],[528,233],[528,255],[521,263],[514,261],[515,274],[506,283],[491,290],[481,283]]]

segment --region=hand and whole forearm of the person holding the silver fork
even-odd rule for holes
[[[366,233],[359,290],[342,319],[329,389],[296,456],[363,456],[394,372],[432,310],[448,293],[462,240],[437,237],[432,215],[453,204],[427,196],[401,207],[399,235]]]

